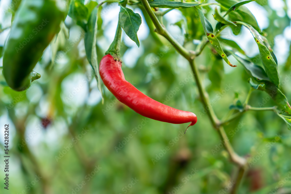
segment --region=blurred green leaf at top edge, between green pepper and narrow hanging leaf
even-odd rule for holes
[[[74,19],[79,26],[86,29],[85,25],[88,17],[88,8],[84,5],[84,1],[71,0],[68,15]]]

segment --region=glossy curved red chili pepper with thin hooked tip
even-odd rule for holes
[[[194,113],[181,111],[157,102],[126,81],[121,70],[121,62],[115,61],[110,54],[102,58],[99,73],[109,91],[135,112],[154,120],[174,124],[191,122],[189,124],[191,126],[197,122]]]

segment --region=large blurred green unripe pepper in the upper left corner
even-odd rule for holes
[[[55,0],[22,0],[3,54],[3,75],[10,88],[22,91],[40,78],[32,70],[63,19]]]

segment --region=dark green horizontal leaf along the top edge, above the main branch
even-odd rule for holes
[[[155,0],[155,1],[148,1],[151,7],[159,7],[159,8],[189,8],[201,5],[198,2],[189,2],[183,3],[178,1],[168,1],[168,0]]]

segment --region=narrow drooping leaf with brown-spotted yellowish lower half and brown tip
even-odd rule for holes
[[[195,7],[196,8],[196,7]],[[215,37],[215,35],[213,34],[213,28],[210,24],[210,22],[205,18],[203,12],[196,8],[197,12],[198,12],[198,15],[199,15],[199,18],[200,18],[200,21],[201,21],[201,24],[203,26],[203,29],[204,29],[204,32],[209,40],[209,42],[211,43],[211,45],[214,47],[214,49],[217,51],[217,53],[223,58],[223,60],[228,64],[230,65],[231,67],[236,67],[236,65],[232,65],[226,54],[223,52],[223,50],[221,49],[221,46],[219,44],[219,41],[218,39]]]

